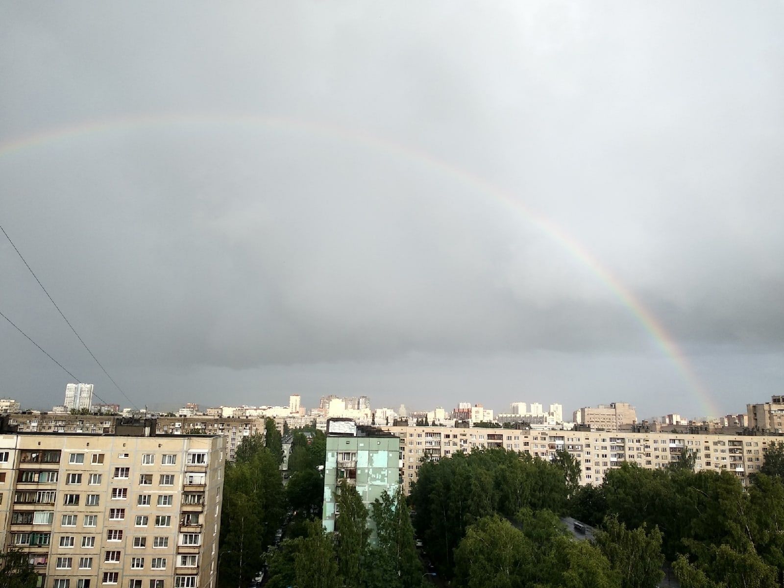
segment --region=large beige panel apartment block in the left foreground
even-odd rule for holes
[[[3,546],[40,588],[214,588],[226,441],[154,431],[0,434]]]

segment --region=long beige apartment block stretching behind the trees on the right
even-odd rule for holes
[[[383,426],[401,438],[401,477],[408,494],[419,477],[422,459],[441,459],[474,448],[501,447],[552,459],[565,449],[582,467],[581,484],[599,485],[609,470],[624,461],[655,469],[695,456],[695,470],[728,470],[743,485],[760,470],[764,452],[776,435],[681,434],[667,432],[485,429],[448,426]]]

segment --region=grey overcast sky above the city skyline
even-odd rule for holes
[[[576,248],[742,412],[784,382],[782,30],[734,0],[5,2],[0,223],[137,405],[705,415]],[[128,405],[8,241],[0,285]],[[0,394],[62,403],[5,321],[0,358]]]

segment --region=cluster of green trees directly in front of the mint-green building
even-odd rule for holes
[[[305,522],[306,534],[285,539],[267,554],[269,588],[411,588],[423,569],[405,496],[384,492],[368,512],[356,488],[343,481],[334,533],[321,521]],[[368,521],[372,525],[368,526]],[[372,533],[376,541],[371,542]]]

